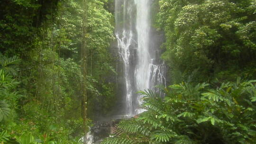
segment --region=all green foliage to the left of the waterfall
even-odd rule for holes
[[[0,143],[73,144],[82,137],[82,4],[83,0],[1,2]],[[110,101],[115,102],[109,5],[108,0],[87,3],[87,126],[89,118],[106,115],[113,106]]]

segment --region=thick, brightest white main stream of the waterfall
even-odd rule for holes
[[[149,34],[150,34],[150,21],[149,21],[149,9],[150,0],[135,0],[137,7],[137,65],[135,69],[136,86],[138,90],[149,89],[150,81],[150,54],[149,54]],[[137,101],[140,104],[140,97],[137,97]],[[136,113],[140,113],[143,110],[136,109]]]

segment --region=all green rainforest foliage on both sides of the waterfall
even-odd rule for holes
[[[81,143],[82,79],[86,126],[111,114],[114,0],[87,0],[87,9],[83,2],[1,0],[0,144]],[[102,143],[254,144],[256,0],[154,0],[153,8],[171,85],[164,98],[140,91],[147,111],[121,121]]]

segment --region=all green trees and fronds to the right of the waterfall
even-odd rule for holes
[[[141,91],[147,111],[103,144],[255,144],[256,1],[156,3],[173,85],[164,99]]]

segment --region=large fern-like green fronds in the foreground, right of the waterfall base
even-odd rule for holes
[[[145,95],[138,118],[118,124],[103,144],[253,144],[256,140],[256,81],[169,86],[161,99]]]

